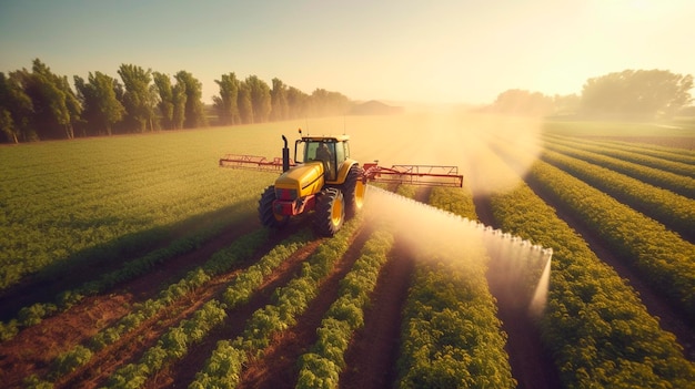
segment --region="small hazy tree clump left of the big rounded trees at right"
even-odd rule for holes
[[[544,116],[553,113],[553,99],[540,92],[511,89],[497,95],[491,111],[506,115]]]

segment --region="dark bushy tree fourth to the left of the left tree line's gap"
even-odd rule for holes
[[[120,122],[125,114],[123,104],[115,95],[117,84],[115,79],[102,72],[90,72],[88,82],[74,76],[78,99],[83,108],[82,117],[95,135],[102,134],[102,131],[111,135],[113,124]]]

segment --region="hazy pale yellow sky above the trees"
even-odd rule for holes
[[[581,93],[625,69],[695,73],[693,0],[0,0],[0,71],[234,72],[352,100]]]

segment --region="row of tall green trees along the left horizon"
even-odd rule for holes
[[[73,76],[51,71],[41,60],[31,70],[0,72],[0,142],[74,139],[207,125],[263,123],[308,116],[345,114],[350,100],[316,89],[312,94],[273,79],[240,80],[222,74],[211,108],[202,101],[202,83],[187,71],[173,76],[121,64],[120,79],[89,72]]]

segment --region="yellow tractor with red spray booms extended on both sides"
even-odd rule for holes
[[[463,185],[463,176],[459,175],[456,166],[393,165],[387,168],[379,166],[375,161],[361,167],[357,161],[350,158],[349,135],[300,136],[294,143],[294,158],[290,158],[288,139],[282,135],[282,157],[272,161],[240,154],[226,154],[220,158],[221,167],[281,173],[259,201],[259,217],[269,228],[282,228],[292,216],[313,211],[319,234],[333,236],[346,217],[362,208],[370,181]]]

